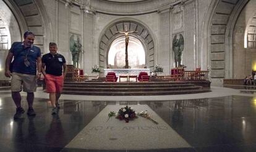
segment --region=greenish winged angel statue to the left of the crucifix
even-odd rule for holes
[[[72,61],[75,68],[78,68],[79,65],[79,55],[82,51],[82,44],[80,43],[80,38],[77,37],[77,41],[75,41],[74,34],[70,36],[70,52],[72,54]]]

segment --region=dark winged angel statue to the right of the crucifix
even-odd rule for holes
[[[184,38],[182,34],[179,34],[179,39],[177,39],[177,34],[173,38],[173,52],[175,67],[181,66],[181,55],[184,49]]]

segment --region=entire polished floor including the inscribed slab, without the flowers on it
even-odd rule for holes
[[[0,91],[0,151],[256,151],[256,90],[212,87],[189,95],[62,95],[51,115],[48,94],[35,94],[36,116],[13,119],[15,105]],[[26,94],[22,106],[27,110]],[[148,110],[138,118],[108,119],[122,106]]]

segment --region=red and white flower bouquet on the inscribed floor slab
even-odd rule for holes
[[[116,118],[119,120],[124,120],[126,122],[129,122],[130,120],[133,120],[138,117],[134,111],[134,108],[125,106],[118,111]]]

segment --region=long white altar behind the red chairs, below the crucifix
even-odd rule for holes
[[[139,76],[140,72],[147,72],[150,75],[149,68],[141,68],[141,69],[104,69],[104,76],[106,76],[109,72],[116,73],[116,76],[119,77],[120,75],[136,75]]]

